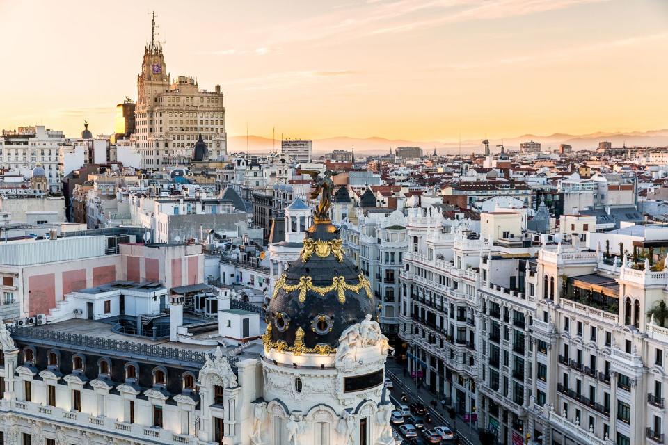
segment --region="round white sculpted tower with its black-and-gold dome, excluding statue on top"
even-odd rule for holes
[[[379,309],[337,227],[316,215],[267,307],[252,444],[393,443]]]

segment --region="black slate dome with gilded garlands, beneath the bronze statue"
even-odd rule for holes
[[[336,348],[347,327],[367,314],[376,318],[378,303],[369,281],[344,256],[337,227],[328,221],[312,225],[304,246],[301,257],[275,284],[267,308],[265,347],[331,352],[326,348]]]

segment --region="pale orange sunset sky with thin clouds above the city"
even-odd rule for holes
[[[156,13],[228,136],[456,140],[668,128],[665,0],[0,0],[0,128],[111,133]]]

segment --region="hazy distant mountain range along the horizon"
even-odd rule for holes
[[[621,147],[626,144],[627,147],[668,147],[668,129],[652,131],[630,131],[626,133],[597,132],[581,135],[555,133],[550,136],[537,136],[534,134],[525,134],[515,138],[490,139],[492,152],[498,152],[500,148],[496,145],[503,143],[506,149],[518,149],[520,143],[528,140],[535,140],[541,143],[544,149],[556,149],[559,144],[570,144],[573,149],[595,149],[601,140],[607,140],[613,147]],[[461,152],[468,154],[471,152],[480,153],[484,147],[480,140],[462,140]],[[248,150],[246,150],[248,147]],[[421,147],[425,154],[434,151],[438,154],[456,154],[460,150],[457,141],[442,140],[403,140],[386,138],[349,138],[340,136],[336,138],[324,138],[313,140],[313,152],[320,155],[331,152],[333,149],[349,150],[355,147],[356,154],[382,154],[390,152],[390,148],[396,147]],[[230,136],[228,138],[228,152],[239,153],[269,153],[273,149],[280,150],[280,140],[273,142],[270,138],[262,136]]]

